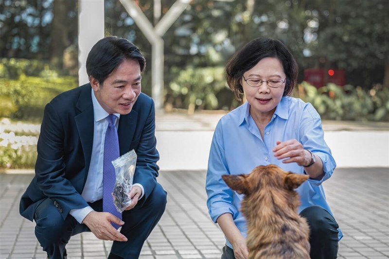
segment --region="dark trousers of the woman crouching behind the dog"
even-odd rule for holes
[[[303,209],[300,215],[307,219],[310,229],[311,259],[337,258],[339,227],[334,217],[324,208],[311,206]],[[234,251],[223,247],[222,259],[235,259]]]

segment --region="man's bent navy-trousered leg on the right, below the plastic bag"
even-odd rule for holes
[[[124,225],[120,232],[128,241],[113,242],[108,259],[139,258],[144,241],[165,211],[166,196],[166,191],[157,183],[147,200],[142,202],[141,199],[133,209],[123,212]]]

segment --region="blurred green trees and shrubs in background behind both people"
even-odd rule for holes
[[[153,26],[175,1],[135,0]],[[155,4],[161,6],[160,17],[155,17]],[[104,5],[106,35],[133,41],[146,57],[142,91],[151,95],[150,42],[120,1],[104,0]],[[57,64],[66,60],[67,51],[76,52],[77,9],[77,1],[0,0],[0,53],[9,58],[0,64],[1,80],[5,79],[1,84],[7,86],[2,87],[7,89],[1,89],[1,98],[12,118],[28,118],[34,111],[24,106],[26,100],[34,103],[62,91],[55,88],[55,80],[63,85],[59,88],[75,87],[71,78],[60,77],[66,66]],[[193,112],[239,105],[225,86],[221,68],[251,39],[268,36],[280,39],[293,52],[300,66],[299,82],[304,68],[346,70],[346,81],[353,86],[326,85],[318,90],[314,101],[323,116],[387,120],[388,13],[388,0],[342,0],[341,4],[338,0],[192,0],[162,36],[165,108]],[[69,62],[74,63],[74,58]],[[45,94],[35,93],[43,86]],[[335,99],[330,97],[333,94]],[[356,107],[356,100],[364,107]],[[360,117],[364,115],[367,118]]]

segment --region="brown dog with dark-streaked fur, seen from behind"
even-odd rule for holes
[[[297,214],[300,199],[294,190],[307,175],[267,165],[222,178],[232,190],[245,194],[241,210],[247,220],[249,259],[310,258],[309,226]]]

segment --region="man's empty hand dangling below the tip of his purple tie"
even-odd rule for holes
[[[90,231],[101,240],[127,241],[127,238],[116,230],[111,222],[123,225],[124,222],[109,212],[91,211],[82,223],[86,224]]]

